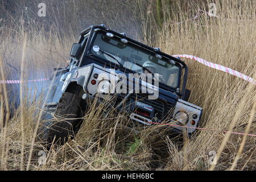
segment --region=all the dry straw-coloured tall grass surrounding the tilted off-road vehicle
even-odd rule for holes
[[[190,17],[177,14],[163,23],[162,30],[154,35],[155,42],[144,36],[145,42],[161,47],[163,52],[170,55],[185,53],[199,56],[255,78],[255,3],[222,1],[222,5],[217,7],[218,18],[209,18],[202,14],[197,20],[181,24],[175,24],[181,21],[176,17],[183,20]],[[199,7],[195,6],[195,13],[197,9]],[[146,16],[152,17],[150,13],[151,11],[148,11]],[[26,37],[24,32],[28,36],[26,49],[22,52]],[[75,42],[75,38],[68,35],[60,38],[57,32],[45,34],[43,30],[27,31],[22,26],[18,31],[1,27],[1,36],[1,68],[5,68],[5,75],[1,76],[0,80],[20,78],[19,65],[22,56],[25,80],[47,77],[50,68],[65,64],[69,49]],[[84,123],[74,140],[47,151],[46,164],[39,165],[40,156],[36,156],[38,153],[35,152],[29,169],[255,170],[255,137],[243,138],[242,135],[219,132],[233,130],[255,134],[255,86],[193,60],[185,60],[185,63],[189,67],[187,86],[192,91],[189,101],[204,109],[199,127],[216,131],[199,130],[194,138],[185,140],[185,144],[180,145],[166,135],[166,127],[154,126],[143,130],[141,134],[134,134],[117,125],[127,122],[122,115],[117,118],[111,118],[110,115],[105,119],[102,118],[101,112],[94,112],[101,110],[102,106],[94,106],[85,115]],[[1,73],[3,75],[3,69]],[[5,85],[0,86],[0,121],[3,123],[7,101],[3,102],[6,98]],[[23,93],[27,93],[26,85],[23,86]],[[43,98],[44,95],[37,97]],[[41,99],[35,100],[35,96],[24,96],[22,106],[15,111],[8,125],[1,125],[2,169],[27,168],[41,103]],[[23,127],[20,127],[21,121]],[[250,131],[245,130],[249,122],[253,122]],[[33,147],[36,149],[38,146],[39,143],[35,143]],[[210,151],[217,152],[216,165],[209,164]]]

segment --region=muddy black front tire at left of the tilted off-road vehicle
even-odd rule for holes
[[[82,117],[82,96],[79,87],[72,92],[63,93],[59,104],[56,107],[55,116],[58,121],[52,121],[44,132],[44,141],[49,148],[52,144],[63,145],[80,129]],[[49,124],[49,123],[48,123]]]

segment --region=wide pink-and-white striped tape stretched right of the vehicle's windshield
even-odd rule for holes
[[[188,59],[196,60],[199,63],[206,65],[207,67],[217,69],[217,70],[220,70],[222,72],[229,73],[230,75],[237,76],[239,78],[242,78],[243,80],[252,82],[254,85],[256,85],[256,80],[254,80],[253,78],[251,78],[249,76],[246,76],[243,73],[240,73],[238,71],[235,71],[234,69],[230,69],[230,68],[224,67],[224,66],[219,65],[219,64],[210,63],[209,61],[201,59],[200,57],[196,57],[196,56],[192,56],[192,55],[172,55],[172,56],[174,56],[174,57],[185,57],[185,58],[188,58]]]

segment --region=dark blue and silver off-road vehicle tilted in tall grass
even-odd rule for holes
[[[152,79],[143,80],[139,77],[142,73],[153,73]],[[69,65],[55,69],[51,75],[43,119],[55,114],[63,116],[63,120],[48,125],[44,139],[51,143],[55,138],[63,144],[79,130],[78,118],[88,110],[89,102],[95,98],[102,102],[109,98],[107,94],[117,96],[112,106],[116,110],[125,108],[132,122],[150,127],[170,121],[174,123],[172,132],[181,133],[184,127],[180,126],[187,126],[191,136],[203,110],[188,102],[187,76],[187,65],[177,57],[128,38],[125,33],[109,30],[104,24],[90,26],[73,44]],[[127,92],[117,92],[115,88],[124,77],[127,88],[119,89]],[[136,87],[139,92],[135,92]]]

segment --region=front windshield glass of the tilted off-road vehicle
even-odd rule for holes
[[[159,73],[159,82],[177,88],[181,67],[172,65],[160,55],[136,44],[121,41],[117,36],[110,38],[104,31],[98,31],[90,50],[93,55],[111,61],[137,73]]]

